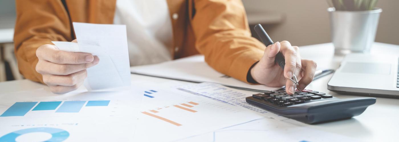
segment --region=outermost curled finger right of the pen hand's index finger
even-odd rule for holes
[[[312,60],[302,60],[302,68],[304,68],[304,76],[299,80],[298,90],[303,90],[313,81],[317,64]]]

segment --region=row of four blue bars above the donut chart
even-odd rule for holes
[[[108,106],[109,103],[110,100],[16,102],[6,111],[4,111],[4,113],[0,115],[0,117],[25,116],[31,110],[32,111],[55,110],[55,113],[79,113],[79,111],[83,108],[83,106],[101,107],[101,106]]]

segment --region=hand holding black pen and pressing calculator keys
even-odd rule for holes
[[[275,56],[281,52],[285,58],[284,70],[275,63]],[[304,89],[312,82],[317,64],[313,60],[304,60],[300,57],[298,47],[291,46],[288,41],[276,42],[265,49],[263,57],[250,73],[252,78],[266,86],[281,87],[286,86],[286,92],[293,94],[295,86],[290,78],[292,74],[298,78],[298,90]]]

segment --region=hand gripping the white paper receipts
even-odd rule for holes
[[[49,44],[41,45],[36,50],[36,56],[39,58],[36,71],[43,75],[43,82],[57,94],[79,88],[87,77],[86,69],[99,63],[99,58],[92,54],[60,51]]]

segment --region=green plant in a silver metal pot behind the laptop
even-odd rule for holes
[[[377,0],[327,0],[336,54],[368,53],[375,40],[381,8]]]

